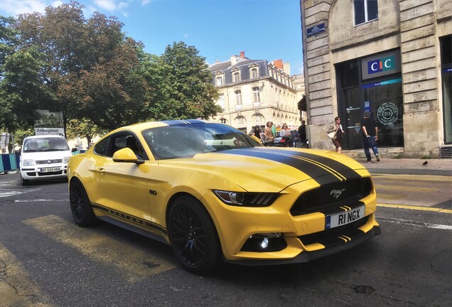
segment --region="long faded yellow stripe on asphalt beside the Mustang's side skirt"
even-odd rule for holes
[[[95,262],[116,266],[129,282],[141,281],[148,276],[175,267],[166,259],[99,235],[93,229],[79,227],[56,215],[37,217],[23,222],[51,239],[77,249]]]

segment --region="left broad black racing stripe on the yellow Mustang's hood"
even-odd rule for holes
[[[287,154],[286,151],[262,151],[256,149],[230,149],[227,151],[221,151],[222,154],[235,154],[237,156],[250,156],[254,158],[264,158],[270,161],[276,161],[284,163],[288,166],[292,166],[308,176],[313,178],[318,184],[324,185],[337,181],[342,181],[337,174],[329,171],[327,168],[323,168],[317,163],[312,161],[303,160],[297,158],[294,155]],[[298,153],[297,153],[298,154]]]

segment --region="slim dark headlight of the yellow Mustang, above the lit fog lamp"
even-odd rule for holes
[[[274,203],[279,195],[278,193],[233,192],[225,190],[212,191],[223,203],[244,207],[268,207]]]

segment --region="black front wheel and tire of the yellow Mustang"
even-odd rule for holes
[[[184,268],[205,274],[220,262],[220,243],[215,225],[198,200],[178,198],[169,212],[168,235],[173,251]]]

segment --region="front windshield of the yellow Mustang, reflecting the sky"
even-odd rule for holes
[[[262,146],[242,131],[225,124],[181,124],[143,131],[156,160]]]

